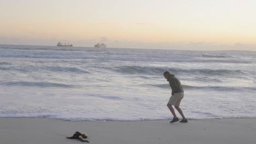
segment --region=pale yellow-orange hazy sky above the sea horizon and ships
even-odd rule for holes
[[[0,44],[256,51],[255,0],[0,0]]]

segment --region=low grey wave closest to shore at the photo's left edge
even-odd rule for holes
[[[27,87],[63,87],[63,88],[73,88],[73,87],[75,87],[75,86],[72,86],[72,85],[66,85],[66,84],[61,84],[61,83],[28,82],[28,81],[0,82],[0,85],[27,86]]]

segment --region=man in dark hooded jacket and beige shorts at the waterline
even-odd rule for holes
[[[170,123],[179,121],[179,118],[176,116],[176,113],[175,113],[172,105],[174,105],[176,110],[182,116],[182,120],[179,122],[187,123],[188,120],[183,115],[181,108],[179,108],[179,104],[181,104],[181,100],[184,97],[184,91],[183,91],[181,82],[179,81],[179,79],[177,79],[174,75],[170,74],[168,71],[165,71],[164,76],[165,76],[165,79],[167,79],[167,81],[170,83],[170,86],[172,88],[172,96],[167,104],[167,107],[170,109],[170,111],[172,112],[172,115],[173,115],[173,119]]]

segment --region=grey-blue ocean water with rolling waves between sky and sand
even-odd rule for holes
[[[0,45],[0,117],[171,119],[164,71],[187,118],[256,117],[256,52],[24,45]]]

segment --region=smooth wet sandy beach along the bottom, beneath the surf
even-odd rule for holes
[[[75,131],[90,143],[256,143],[256,119],[227,118],[169,121],[71,122],[49,118],[0,118],[1,144],[83,143],[66,139]]]

